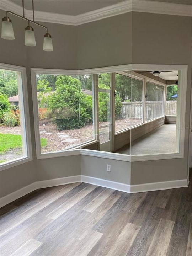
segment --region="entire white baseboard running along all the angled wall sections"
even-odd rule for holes
[[[176,180],[176,181],[145,183],[145,184],[138,184],[138,185],[128,185],[128,184],[120,183],[116,181],[103,180],[101,178],[95,178],[95,177],[90,177],[85,175],[76,175],[76,176],[69,176],[69,177],[63,177],[63,178],[56,178],[52,180],[34,182],[26,187],[23,187],[19,190],[16,190],[15,192],[12,192],[11,194],[8,194],[0,198],[0,207],[13,202],[22,196],[25,196],[26,194],[38,188],[53,187],[53,186],[59,186],[59,185],[75,183],[75,182],[85,182],[85,183],[94,184],[94,185],[106,187],[106,188],[111,188],[114,190],[119,190],[127,193],[165,190],[165,189],[180,188],[180,187],[188,186],[187,179]]]

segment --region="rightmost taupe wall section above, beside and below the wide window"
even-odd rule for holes
[[[132,18],[132,62],[188,65],[188,78],[184,158],[132,162],[131,184],[186,179],[191,94],[191,17],[133,12]]]

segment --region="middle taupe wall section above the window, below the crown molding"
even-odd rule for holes
[[[129,64],[132,61],[132,13],[78,26],[78,69]]]

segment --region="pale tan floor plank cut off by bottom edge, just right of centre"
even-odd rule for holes
[[[127,223],[121,234],[119,235],[118,239],[111,247],[110,251],[108,252],[107,256],[116,255],[126,255],[129,251],[135,237],[137,236],[140,226]]]

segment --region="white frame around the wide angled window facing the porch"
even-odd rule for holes
[[[159,159],[173,159],[183,158],[184,156],[184,138],[185,138],[185,107],[186,107],[186,89],[187,89],[187,65],[156,65],[156,64],[128,64],[111,66],[105,68],[85,69],[85,70],[57,70],[57,69],[37,69],[31,68],[31,81],[32,81],[32,95],[33,95],[33,111],[34,111],[34,124],[35,124],[35,139],[36,139],[36,152],[37,159],[42,158],[53,158],[58,156],[68,155],[89,155],[100,158],[116,159],[128,162],[134,161],[149,161]],[[36,74],[63,74],[63,75],[84,75],[84,74],[99,74],[99,73],[118,73],[127,70],[179,70],[180,76],[178,84],[178,94],[180,100],[178,102],[178,115],[177,115],[177,152],[176,153],[161,153],[161,154],[150,154],[150,155],[126,155],[112,152],[96,151],[89,149],[74,149],[68,151],[57,151],[53,153],[41,154],[40,147],[40,134],[39,134],[39,123],[38,123],[38,103],[37,103],[37,90],[36,90]],[[146,79],[146,81],[153,82],[153,79]],[[164,85],[162,83],[158,83]],[[158,118],[162,118],[158,117]],[[157,119],[158,119],[157,118]],[[153,119],[155,120],[155,119]],[[143,124],[141,124],[143,125]]]

